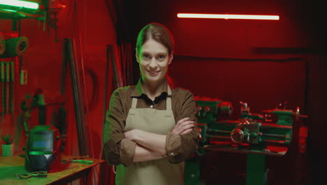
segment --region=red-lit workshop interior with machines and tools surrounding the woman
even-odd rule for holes
[[[322,1],[0,0],[0,184],[115,184],[106,112],[150,22],[196,102],[185,185],[324,184],[326,20]]]

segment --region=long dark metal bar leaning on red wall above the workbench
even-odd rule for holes
[[[87,139],[85,132],[85,120],[84,120],[84,111],[82,104],[82,96],[80,90],[80,78],[75,69],[75,55],[73,48],[72,39],[64,39],[64,47],[66,48],[66,56],[69,62],[69,67],[71,69],[71,83],[73,88],[73,98],[74,98],[74,107],[75,107],[75,119],[78,130],[78,147],[81,156],[88,155]]]

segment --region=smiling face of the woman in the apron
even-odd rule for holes
[[[140,64],[140,72],[144,81],[160,83],[173,60],[173,54],[168,55],[168,49],[154,39],[147,40],[140,48],[136,59]]]

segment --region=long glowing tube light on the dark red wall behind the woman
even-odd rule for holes
[[[279,15],[236,15],[236,14],[203,14],[177,13],[177,18],[205,18],[205,19],[242,19],[242,20],[279,20]]]

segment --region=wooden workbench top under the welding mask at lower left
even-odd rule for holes
[[[76,156],[61,156],[62,160],[75,158]],[[104,163],[105,160],[87,158],[93,160],[93,164],[81,163],[61,163],[61,166],[55,172],[49,172],[48,177],[31,177],[29,179],[20,179],[16,177],[17,173],[26,173],[24,168],[24,158],[21,156],[0,156],[0,184],[1,185],[43,185],[43,184],[68,184],[75,179],[87,178],[90,176],[92,167]]]

